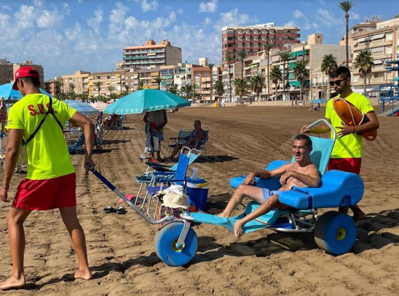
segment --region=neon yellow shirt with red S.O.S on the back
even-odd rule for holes
[[[35,131],[48,110],[49,97],[44,94],[28,94],[9,110],[7,128],[22,129],[26,141]],[[76,112],[62,101],[52,98],[54,114],[64,123]],[[52,114],[48,114],[42,126],[27,144],[28,168],[26,179],[53,179],[75,171],[65,142],[64,134]]]

